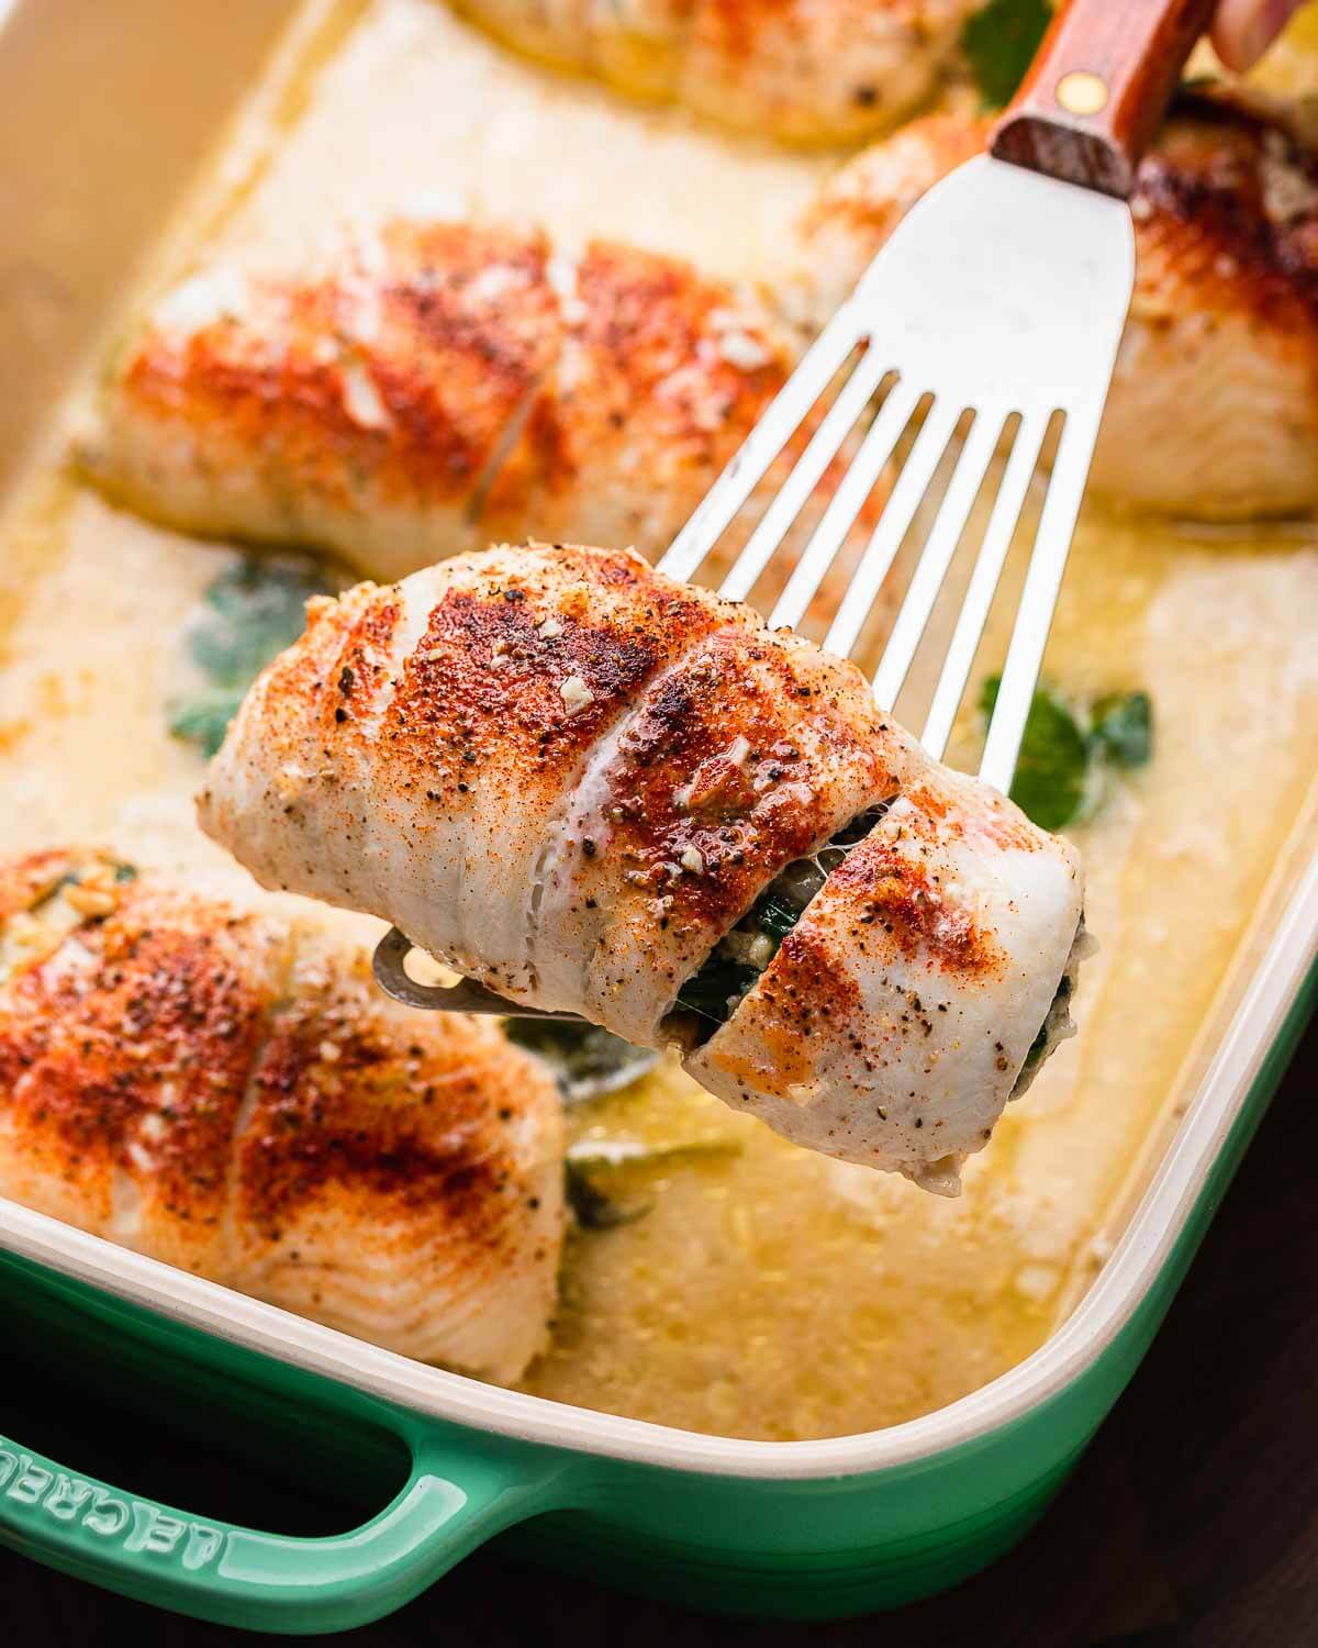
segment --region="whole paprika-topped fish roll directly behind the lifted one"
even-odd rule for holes
[[[165,526],[395,578],[522,536],[662,552],[792,364],[679,259],[390,221],[320,267],[203,267],[112,363],[82,470]]]

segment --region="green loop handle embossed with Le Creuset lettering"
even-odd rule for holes
[[[423,1429],[409,1440],[409,1480],[377,1516],[305,1539],[191,1516],[0,1437],[0,1543],[222,1625],[334,1632],[390,1613],[493,1534],[565,1506],[562,1455],[481,1435],[445,1445]]]

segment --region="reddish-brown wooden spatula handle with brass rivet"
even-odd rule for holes
[[[990,150],[1033,171],[1130,194],[1135,166],[1214,0],[1063,0]]]

